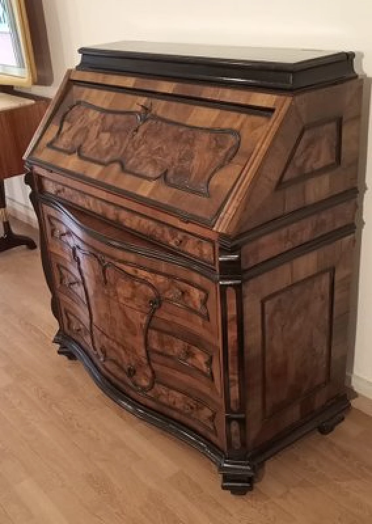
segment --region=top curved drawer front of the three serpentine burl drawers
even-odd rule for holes
[[[112,294],[119,300],[127,293],[127,275],[134,282],[148,281],[161,301],[157,318],[180,324],[215,343],[218,337],[215,282],[187,267],[140,254],[139,250],[137,253],[135,245],[118,243],[116,237],[104,237],[85,229],[68,212],[47,205],[43,205],[43,210],[50,250],[72,263],[78,260],[83,274],[90,277],[90,285],[103,273],[102,282],[111,286]],[[120,247],[114,247],[117,245]],[[137,300],[135,296],[133,300]]]

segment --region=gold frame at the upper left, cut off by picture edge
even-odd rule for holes
[[[36,65],[32,50],[31,34],[27,19],[25,0],[5,0],[12,8],[14,35],[19,43],[23,67],[8,67],[0,63],[0,85],[27,87],[36,82]]]

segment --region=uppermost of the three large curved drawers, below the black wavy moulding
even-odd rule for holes
[[[134,244],[137,239],[133,235],[83,213],[78,220],[52,204],[43,204],[42,209],[49,249],[67,261],[68,269],[70,265],[79,268],[87,300],[96,305],[97,314],[100,308],[107,314],[107,319],[101,318],[102,325],[110,318],[113,321],[105,310],[105,298],[116,304],[135,302],[143,308],[154,300],[157,319],[177,323],[217,345],[217,287],[212,272],[205,274],[207,277],[183,267],[182,259],[151,251],[144,241]],[[138,290],[144,291],[142,297]]]

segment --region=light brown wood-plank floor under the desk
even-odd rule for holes
[[[107,399],[56,354],[39,252],[0,255],[1,524],[372,523],[372,417],[352,410],[222,492],[198,452]],[[358,399],[372,415],[372,402]]]

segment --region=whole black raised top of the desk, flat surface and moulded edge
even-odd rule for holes
[[[78,70],[297,91],[355,78],[353,52],[123,41],[79,49]]]

